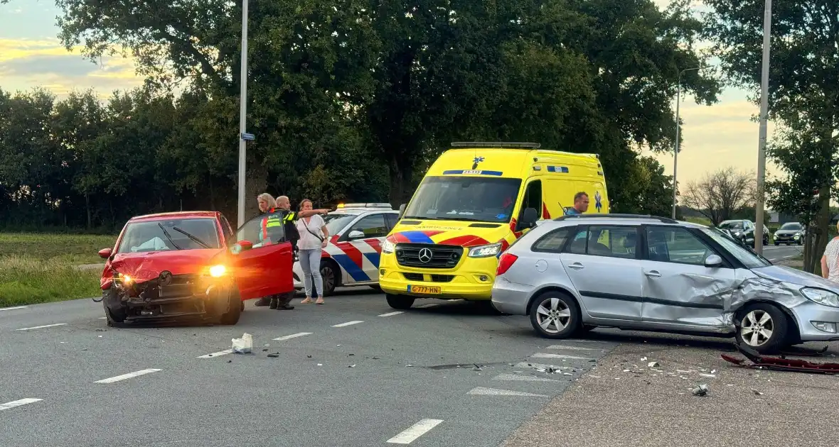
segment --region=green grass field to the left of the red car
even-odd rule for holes
[[[112,247],[115,236],[90,234],[0,233],[0,307],[100,295],[101,269],[76,265],[103,263],[96,254]]]

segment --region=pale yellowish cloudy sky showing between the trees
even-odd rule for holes
[[[669,2],[655,0],[655,3],[662,7]],[[0,87],[3,90],[29,90],[40,85],[62,97],[71,90],[94,88],[104,99],[112,90],[142,84],[142,79],[134,74],[131,59],[102,58],[93,64],[83,59],[78,49],[67,52],[56,37],[59,28],[55,17],[59,14],[52,0],[12,0],[0,5]],[[751,117],[759,110],[746,96],[746,91],[727,89],[720,101],[710,107],[696,105],[690,97],[682,101],[680,190],[684,191],[687,182],[727,167],[757,171],[758,123],[751,121]],[[773,130],[769,122],[770,139]],[[673,152],[655,157],[668,175],[673,173]],[[768,163],[767,173],[771,175],[777,170]]]

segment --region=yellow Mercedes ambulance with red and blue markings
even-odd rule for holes
[[[456,142],[425,173],[382,244],[379,285],[388,304],[416,298],[487,301],[498,257],[538,218],[557,218],[589,197],[586,213],[608,213],[595,154],[538,143]]]

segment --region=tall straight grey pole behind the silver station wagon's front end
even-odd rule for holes
[[[772,0],[763,4],[763,62],[760,74],[760,130],[758,136],[758,197],[755,200],[754,250],[763,254],[763,188],[766,177],[766,121],[769,118],[769,41]]]

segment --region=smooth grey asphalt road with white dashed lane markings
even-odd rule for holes
[[[237,326],[109,328],[90,300],[0,310],[0,445],[498,445],[618,344],[369,292],[248,302]],[[254,352],[223,353],[243,332]]]

